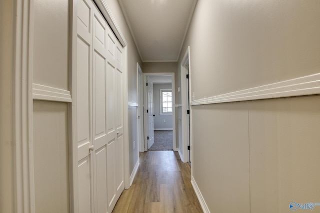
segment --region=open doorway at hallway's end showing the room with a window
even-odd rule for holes
[[[143,73],[144,151],[175,150],[174,73]]]

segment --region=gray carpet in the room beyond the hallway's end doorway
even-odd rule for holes
[[[172,130],[155,130],[154,144],[149,150],[173,150]]]

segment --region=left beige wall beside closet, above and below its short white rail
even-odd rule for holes
[[[33,83],[69,90],[69,2],[33,4]],[[33,101],[35,212],[69,212],[68,108],[65,102]]]

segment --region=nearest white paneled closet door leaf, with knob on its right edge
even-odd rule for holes
[[[92,7],[91,1],[77,4],[76,141],[78,160],[78,210],[93,213],[92,144]]]

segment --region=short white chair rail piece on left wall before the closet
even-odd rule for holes
[[[32,84],[32,97],[36,100],[72,102],[70,91]]]

